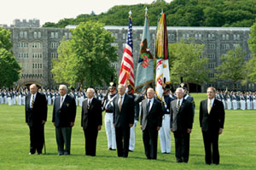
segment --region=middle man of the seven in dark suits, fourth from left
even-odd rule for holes
[[[118,96],[113,99],[113,126],[118,156],[128,157],[130,128],[134,123],[134,100],[125,94],[125,86],[119,84]]]

